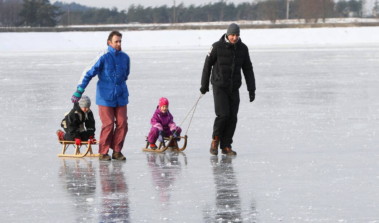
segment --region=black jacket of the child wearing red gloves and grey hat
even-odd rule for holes
[[[67,129],[67,138],[79,138],[80,132],[84,131],[87,132],[88,136],[94,136],[96,130],[95,119],[91,109],[85,113],[80,109],[78,102],[74,104],[74,108],[71,111],[64,114],[61,127]]]

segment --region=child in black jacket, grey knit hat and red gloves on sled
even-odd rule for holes
[[[89,109],[91,100],[88,96],[81,96],[81,99],[74,103],[74,108],[64,114],[61,122],[64,133],[61,130],[56,131],[58,140],[75,141],[75,144],[81,145],[81,141],[89,140],[94,144],[95,139],[95,119],[92,111]]]

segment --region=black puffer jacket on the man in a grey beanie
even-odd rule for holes
[[[238,39],[236,44],[226,42],[225,35],[222,35],[219,41],[212,44],[212,48],[205,58],[201,87],[209,90],[210,79],[211,84],[219,88],[229,91],[237,90],[242,84],[242,69],[247,90],[255,91],[255,77],[249,49],[241,39]]]

